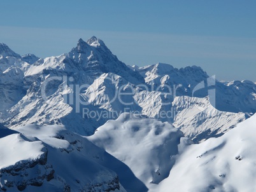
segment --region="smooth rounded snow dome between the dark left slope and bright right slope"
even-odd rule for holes
[[[123,113],[88,139],[128,165],[151,188],[168,176],[180,153],[178,146],[187,145],[188,139],[180,141],[181,137],[182,132],[167,122]]]

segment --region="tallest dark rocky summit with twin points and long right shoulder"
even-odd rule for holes
[[[66,57],[90,76],[96,77],[103,73],[113,72],[134,85],[145,83],[138,72],[118,60],[103,41],[95,36],[92,36],[87,42],[80,38],[77,46],[69,51]]]

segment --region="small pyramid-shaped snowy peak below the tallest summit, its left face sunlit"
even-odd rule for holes
[[[117,111],[120,114],[124,112],[125,108],[129,111],[141,111],[141,107],[133,98],[134,91],[137,90],[132,83],[109,72],[99,76],[82,95],[90,104],[108,111]]]

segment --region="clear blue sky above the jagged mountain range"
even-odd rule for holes
[[[256,1],[1,1],[0,42],[19,54],[66,53],[95,35],[129,65],[199,65],[256,82]]]

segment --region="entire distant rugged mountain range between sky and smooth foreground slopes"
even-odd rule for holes
[[[209,79],[203,69],[196,66],[176,69],[160,63],[147,67],[127,67],[96,37],[87,42],[79,39],[77,46],[69,53],[44,59],[32,54],[21,57],[1,44],[0,68],[3,71],[0,72],[3,90],[0,118],[8,128],[31,123],[59,124],[78,134],[92,135],[107,120],[115,119],[124,112],[136,111],[173,123],[183,131],[189,127],[185,135],[197,142],[205,139],[204,135],[207,138],[221,135],[248,117],[247,114],[239,114],[239,111],[247,113],[256,109],[254,83],[216,81],[213,86],[216,92],[215,107],[220,110],[220,115],[214,118],[210,113],[204,113],[201,118],[198,118],[199,114],[197,117],[190,116],[190,108],[196,109],[198,102],[206,107],[211,106],[205,104],[207,87],[199,87],[194,92],[198,85]],[[182,99],[175,99],[183,95],[201,99],[197,99],[195,104],[189,102],[189,107],[184,107]],[[83,114],[83,109],[96,111],[97,114],[110,114],[113,111],[116,114],[100,118],[97,115],[92,120]],[[232,121],[223,118],[226,111],[233,112],[230,114]],[[163,112],[173,114],[161,116]],[[179,116],[184,115],[190,116],[189,126],[180,122]],[[217,127],[212,125],[213,122],[217,123]],[[220,130],[217,131],[218,128]]]

